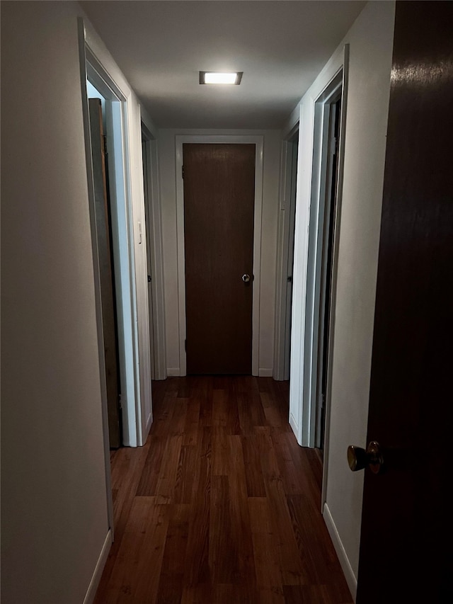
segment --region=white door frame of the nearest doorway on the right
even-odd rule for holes
[[[296,228],[294,240],[294,281],[292,307],[292,375],[289,384],[289,423],[299,445],[315,446],[316,442],[316,372],[317,338],[316,317],[319,317],[319,258],[316,243],[319,234],[319,196],[321,195],[320,162],[323,154],[321,140],[322,124],[315,132],[315,113],[332,93],[338,79],[343,86],[340,122],[340,145],[338,149],[338,183],[336,235],[333,244],[331,329],[329,336],[328,379],[326,392],[326,433],[324,458],[328,456],[328,426],[330,425],[331,401],[331,355],[335,331],[336,274],[338,259],[338,232],[340,229],[341,195],[343,191],[343,162],[345,154],[346,103],[348,97],[349,45],[338,50],[314,81],[300,105],[301,130],[299,135],[299,160],[297,178]],[[317,109],[318,107],[318,109]],[[318,137],[316,139],[316,137]],[[319,293],[319,292],[318,292]],[[323,501],[327,484],[326,464],[323,472]]]

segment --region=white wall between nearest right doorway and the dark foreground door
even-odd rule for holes
[[[350,472],[346,450],[366,446],[394,12],[394,2],[369,3],[347,36],[350,79],[326,502],[356,577],[364,474]]]

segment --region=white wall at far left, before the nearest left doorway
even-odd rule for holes
[[[108,534],[76,11],[1,3],[5,604],[81,604]]]

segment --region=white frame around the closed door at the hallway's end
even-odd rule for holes
[[[254,144],[255,210],[253,223],[253,309],[252,309],[252,375],[259,374],[260,348],[260,265],[261,220],[263,214],[263,136],[177,135],[176,136],[176,228],[178,241],[178,315],[180,375],[186,374],[185,355],[185,253],[184,253],[184,181],[183,144]]]

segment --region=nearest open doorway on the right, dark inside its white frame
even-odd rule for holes
[[[310,440],[321,461],[328,447],[336,231],[340,205],[344,128],[343,69],[314,103],[314,145],[309,216],[304,350],[304,399],[310,406]],[[324,482],[326,476],[323,476]]]

